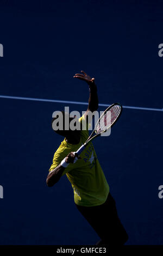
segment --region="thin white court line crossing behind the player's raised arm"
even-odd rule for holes
[[[11,100],[33,100],[33,101],[44,101],[44,102],[55,102],[55,103],[69,103],[69,104],[78,104],[78,105],[88,105],[87,102],[80,102],[80,101],[67,101],[67,100],[48,100],[48,99],[37,99],[37,98],[30,98],[30,97],[17,97],[17,96],[5,96],[0,95],[0,98],[3,99],[11,99]],[[102,107],[108,107],[110,104],[98,104]],[[162,111],[163,108],[147,108],[147,107],[131,107],[131,106],[123,106],[123,108],[130,108],[130,109],[139,109],[139,110],[148,110],[148,111]]]

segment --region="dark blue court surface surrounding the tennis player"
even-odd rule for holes
[[[124,106],[111,135],[93,145],[127,245],[163,244],[162,13],[163,1],[1,1],[1,245],[99,240],[66,175],[46,185],[62,141],[52,113],[87,109],[74,104],[89,99],[87,84],[73,78],[80,70],[95,77],[99,103]]]

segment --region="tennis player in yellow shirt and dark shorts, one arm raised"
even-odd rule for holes
[[[91,78],[84,71],[73,77],[85,81],[90,91],[87,111],[79,119],[82,123],[87,119],[90,111],[97,111],[97,87],[95,78]],[[52,123],[54,120],[55,118]],[[89,137],[88,126],[86,130],[57,130],[56,132],[65,139],[54,154],[46,180],[47,186],[53,186],[62,175],[66,174],[72,184],[77,209],[101,239],[96,245],[124,245],[128,235],[118,218],[115,200],[110,194],[108,182],[92,143],[87,145],[80,156],[76,154]]]

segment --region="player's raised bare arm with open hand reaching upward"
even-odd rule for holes
[[[78,78],[80,80],[84,80],[89,85],[89,91],[90,91],[89,105],[88,105],[87,111],[84,114],[86,117],[89,111],[93,112],[98,109],[98,95],[97,95],[97,86],[95,83],[95,78],[91,78],[84,71],[81,71],[81,72],[83,74],[76,74],[73,77]]]

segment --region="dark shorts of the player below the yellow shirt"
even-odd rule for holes
[[[102,205],[76,206],[101,238],[96,245],[123,245],[127,242],[128,235],[118,218],[115,200],[110,193]]]

